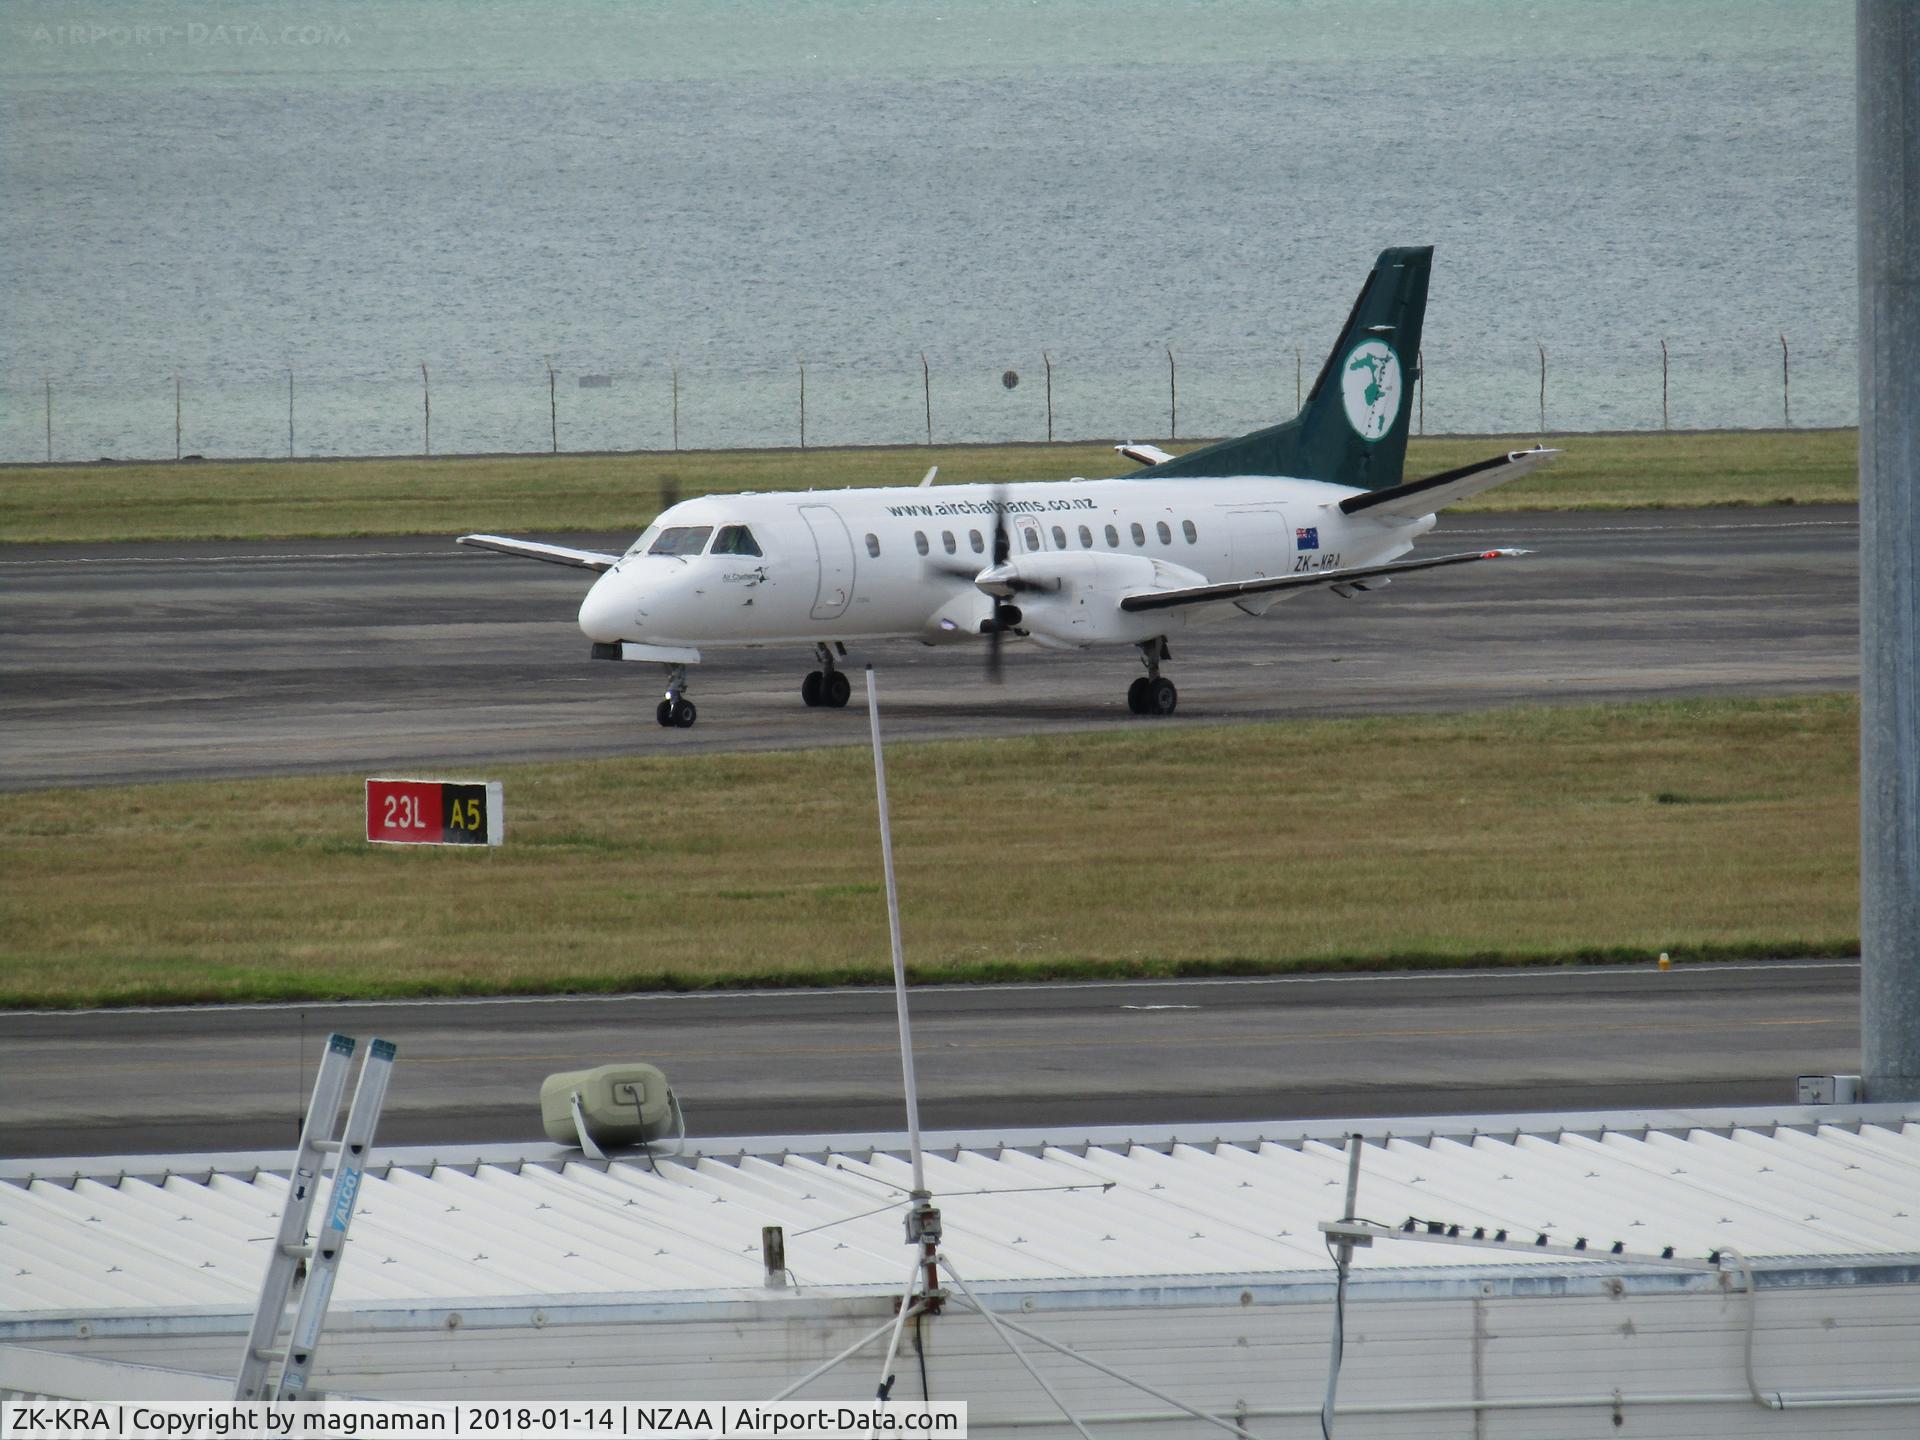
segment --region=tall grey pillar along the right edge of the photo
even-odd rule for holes
[[[1920,1100],[1920,6],[1859,0],[1860,1075]]]

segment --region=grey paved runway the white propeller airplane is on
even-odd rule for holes
[[[1859,684],[1851,507],[1442,518],[1417,553],[1496,543],[1536,553],[1175,639],[1171,720],[1127,714],[1125,651],[1016,645],[1000,687],[977,649],[851,664],[895,739]],[[588,659],[588,580],[419,538],[0,547],[0,787],[866,741],[801,705],[801,647],[714,655],[699,724],[660,730],[657,666]]]

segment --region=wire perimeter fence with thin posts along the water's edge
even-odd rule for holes
[[[1140,344],[780,361],[566,353],[505,363],[200,367],[0,384],[0,461],[478,455],[1181,440],[1273,424],[1321,355]],[[1757,332],[1428,346],[1417,434],[1839,426],[1857,346]]]

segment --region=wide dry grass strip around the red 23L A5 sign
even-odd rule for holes
[[[1853,697],[889,747],[920,981],[1857,950]],[[355,776],[0,797],[0,1004],[889,973],[862,749],[511,766],[503,849]]]

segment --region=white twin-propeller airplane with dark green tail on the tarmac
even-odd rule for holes
[[[1400,559],[1436,511],[1548,463],[1496,455],[1402,480],[1432,246],[1382,250],[1300,413],[1185,455],[1116,445],[1106,480],[703,495],[668,505],[624,555],[509,536],[457,543],[601,572],[580,603],[593,659],[666,666],[660,726],[687,728],[707,651],[810,643],[808,707],[843,707],[847,645],[914,639],[1139,649],[1127,708],[1173,714],[1162,674],[1188,626],[1269,616],[1311,588],[1354,597],[1417,570],[1524,555]]]

